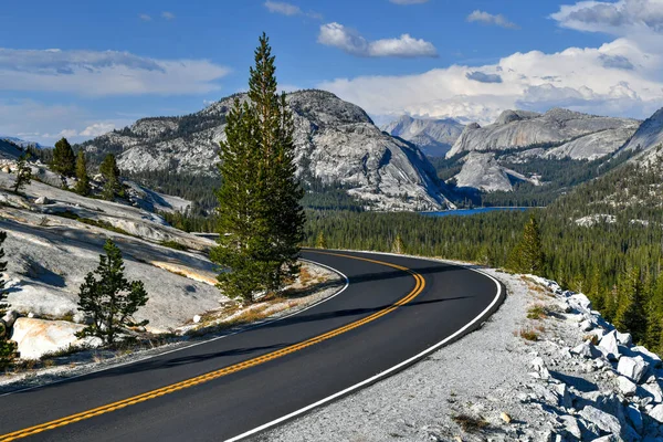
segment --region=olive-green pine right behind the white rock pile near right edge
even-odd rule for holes
[[[629,332],[639,343],[646,332],[643,285],[639,267],[632,267],[622,275],[619,284],[619,306],[614,315],[614,326]]]

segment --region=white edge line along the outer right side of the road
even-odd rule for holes
[[[412,257],[412,259],[417,259],[417,260],[421,260],[421,261],[441,262],[441,261],[438,261],[438,260],[423,259],[423,257],[419,257],[419,256],[398,255],[398,254],[394,254],[394,253],[379,253],[379,252],[360,252],[360,253],[385,254],[385,255],[392,255],[392,256]],[[304,414],[304,413],[306,413],[307,411],[309,411],[309,410],[312,410],[314,408],[317,408],[317,407],[324,406],[325,403],[332,402],[333,400],[335,400],[335,399],[337,399],[339,397],[346,396],[346,394],[348,394],[348,393],[350,393],[350,392],[352,392],[355,390],[358,390],[358,389],[360,389],[361,387],[364,387],[366,385],[370,385],[370,383],[373,383],[373,382],[376,382],[376,381],[378,381],[378,380],[380,380],[382,378],[387,378],[391,373],[393,373],[394,371],[398,371],[401,368],[407,367],[408,365],[410,365],[410,364],[412,364],[412,362],[414,362],[414,361],[417,361],[419,359],[422,359],[427,355],[429,355],[429,354],[438,350],[440,347],[444,346],[450,340],[452,340],[455,337],[457,337],[459,335],[463,334],[467,328],[470,328],[473,325],[475,325],[476,322],[483,319],[484,315],[486,313],[488,313],[495,306],[495,304],[499,301],[499,297],[502,296],[502,284],[499,283],[499,281],[497,281],[497,278],[493,277],[492,275],[490,275],[490,274],[487,274],[485,272],[482,272],[482,271],[476,270],[476,269],[469,267],[469,266],[463,265],[463,264],[450,263],[448,261],[444,261],[444,263],[445,264],[450,264],[450,265],[455,265],[455,266],[459,266],[459,267],[463,267],[463,269],[466,269],[466,270],[471,270],[471,271],[476,272],[476,273],[480,273],[480,274],[482,274],[484,276],[487,276],[491,280],[493,280],[493,282],[495,283],[495,285],[497,285],[497,294],[495,295],[495,298],[493,299],[493,302],[482,313],[480,313],[474,319],[472,319],[472,322],[467,323],[461,329],[456,330],[453,335],[448,336],[446,338],[442,339],[441,341],[439,341],[438,344],[433,345],[432,347],[429,347],[428,349],[421,351],[420,354],[418,354],[415,356],[412,356],[410,359],[407,359],[407,360],[404,360],[404,361],[402,361],[402,362],[400,362],[400,364],[398,364],[398,365],[396,365],[396,366],[393,366],[393,367],[391,367],[391,368],[389,368],[389,369],[387,369],[387,370],[385,370],[385,371],[382,371],[382,372],[380,372],[380,373],[378,373],[378,375],[376,375],[376,376],[373,376],[371,378],[362,380],[359,383],[355,383],[354,386],[348,387],[345,390],[338,391],[337,393],[334,393],[334,394],[328,396],[328,397],[326,397],[324,399],[320,399],[319,401],[317,401],[315,403],[312,403],[312,404],[309,404],[307,407],[304,407],[304,408],[302,408],[299,410],[293,411],[290,414],[286,414],[284,417],[278,418],[278,419],[275,419],[275,420],[273,420],[271,422],[267,422],[267,423],[265,423],[263,425],[254,428],[253,430],[249,430],[245,433],[239,434],[239,435],[236,435],[234,438],[227,439],[225,442],[235,442],[235,441],[242,440],[244,438],[248,438],[250,435],[253,435],[255,433],[260,433],[261,431],[264,431],[264,430],[266,430],[266,429],[269,429],[271,427],[275,427],[275,425],[277,425],[277,424],[280,424],[280,423],[284,422],[284,421],[287,421],[287,420],[290,420],[292,418],[295,418],[295,417],[297,417],[299,414]]]

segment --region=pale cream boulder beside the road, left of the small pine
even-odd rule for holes
[[[18,344],[21,359],[39,359],[46,354],[73,347],[98,347],[98,338],[78,339],[74,336],[84,326],[66,320],[18,318],[11,339]]]

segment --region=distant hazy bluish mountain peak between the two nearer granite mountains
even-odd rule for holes
[[[428,156],[443,157],[461,136],[463,127],[453,118],[421,119],[403,115],[382,130],[417,145]]]

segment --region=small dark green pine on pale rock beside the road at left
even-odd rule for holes
[[[113,344],[124,327],[143,326],[147,320],[134,323],[133,315],[147,301],[141,281],[129,282],[124,275],[122,252],[110,240],[104,245],[106,255],[99,255],[99,265],[90,272],[78,293],[78,311],[88,314],[92,324],[76,336],[96,336]]]

